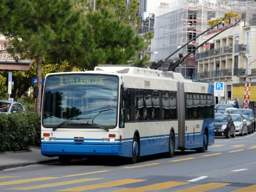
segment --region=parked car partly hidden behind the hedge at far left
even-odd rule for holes
[[[21,103],[16,101],[0,100],[0,113],[18,113],[25,111]]]

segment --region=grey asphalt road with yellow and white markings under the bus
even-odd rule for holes
[[[0,172],[0,191],[256,191],[256,133],[215,138],[205,153],[175,151],[126,164],[122,158],[72,160]],[[5,190],[8,189],[8,190]]]

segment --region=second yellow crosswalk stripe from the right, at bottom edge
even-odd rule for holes
[[[190,188],[186,188],[186,189],[182,189],[176,192],[204,192],[204,191],[208,191],[211,189],[215,189],[215,188],[219,188],[219,187],[223,187],[225,185],[229,185],[230,183],[207,183],[205,185],[197,185],[195,187],[190,187]]]

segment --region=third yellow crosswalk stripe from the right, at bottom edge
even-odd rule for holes
[[[143,187],[138,187],[138,188],[124,188],[120,190],[116,190],[115,192],[143,192],[143,191],[150,191],[150,190],[161,190],[161,189],[168,189],[171,187],[175,187],[178,185],[184,185],[188,184],[187,182],[175,182],[175,181],[167,181],[163,183],[156,183],[152,185],[147,185]]]

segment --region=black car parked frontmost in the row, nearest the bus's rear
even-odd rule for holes
[[[236,127],[229,114],[215,114],[215,137],[225,136],[226,138],[236,137]]]

